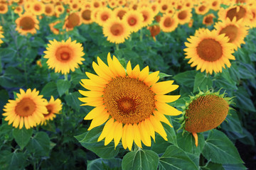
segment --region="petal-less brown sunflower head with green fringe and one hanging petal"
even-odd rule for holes
[[[191,96],[190,101],[183,106],[181,128],[191,132],[198,146],[198,132],[206,132],[217,128],[228,115],[231,98],[224,97],[220,91],[200,91],[196,96]]]

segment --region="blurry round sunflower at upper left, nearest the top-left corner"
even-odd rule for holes
[[[39,29],[39,21],[31,13],[23,13],[23,15],[16,19],[15,23],[17,25],[16,30],[21,35],[27,35],[28,33],[35,34],[36,29]]]

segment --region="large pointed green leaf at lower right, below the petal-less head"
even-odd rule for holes
[[[203,148],[203,157],[218,164],[242,164],[238,149],[219,130],[211,130]]]

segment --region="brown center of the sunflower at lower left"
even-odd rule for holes
[[[15,112],[17,115],[26,117],[29,115],[33,115],[36,110],[36,104],[31,100],[31,98],[23,98],[21,101],[17,103],[15,108]]]

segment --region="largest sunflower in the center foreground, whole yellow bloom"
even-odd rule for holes
[[[151,146],[151,137],[155,140],[155,132],[158,132],[164,140],[167,140],[161,122],[171,126],[165,115],[179,115],[176,110],[166,103],[176,101],[180,95],[169,96],[170,91],[178,88],[174,81],[159,80],[159,72],[149,74],[149,67],[140,71],[139,65],[132,69],[128,62],[125,72],[124,67],[116,57],[107,55],[107,64],[97,57],[97,62],[92,63],[95,74],[86,72],[89,79],[82,79],[81,85],[89,91],[80,90],[85,96],[79,98],[84,102],[82,106],[94,106],[95,108],[85,116],[85,120],[92,123],[88,130],[105,124],[98,141],[105,138],[105,145],[114,139],[114,146],[119,144],[122,138],[124,149],[131,150],[133,142],[138,147]]]

